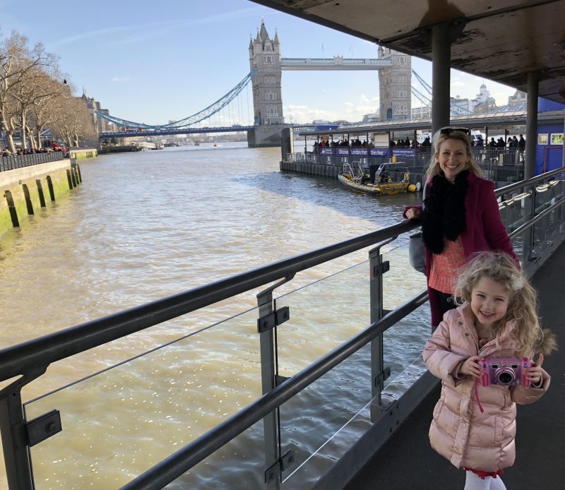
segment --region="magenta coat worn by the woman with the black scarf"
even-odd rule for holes
[[[469,187],[465,196],[467,227],[461,234],[465,258],[476,252],[499,250],[508,253],[520,265],[506,227],[500,219],[499,204],[494,196],[494,182],[477,177],[472,172],[469,172],[468,182]],[[406,217],[406,211],[410,208],[421,210],[422,206],[408,206],[404,210],[403,217]],[[427,277],[429,277],[431,260],[432,253],[426,249]],[[441,321],[442,311],[435,294],[430,294],[429,306],[432,309],[432,325],[437,325]]]

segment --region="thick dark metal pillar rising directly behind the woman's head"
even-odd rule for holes
[[[451,26],[432,27],[432,134],[449,126]]]

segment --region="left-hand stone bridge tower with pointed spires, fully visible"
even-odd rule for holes
[[[248,133],[249,146],[280,146],[280,131],[285,127],[283,119],[283,97],[280,90],[280,42],[277,32],[270,39],[261,19],[261,29],[255,39],[249,40],[250,71],[257,68],[251,80],[253,109],[256,127]]]

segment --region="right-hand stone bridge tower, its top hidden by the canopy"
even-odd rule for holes
[[[412,119],[412,56],[379,46],[379,58],[392,61],[379,70],[381,121]]]

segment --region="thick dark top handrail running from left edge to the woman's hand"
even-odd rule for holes
[[[419,225],[417,222],[400,222],[391,227],[340,241],[337,244],[233,275],[205,286],[195,287],[187,292],[6,347],[0,350],[0,381],[28,373],[37,369],[38,366],[48,366],[52,362],[66,359],[74,354],[177,318],[269,282],[295,275],[314,265],[331,261],[379,241],[409,232]]]

